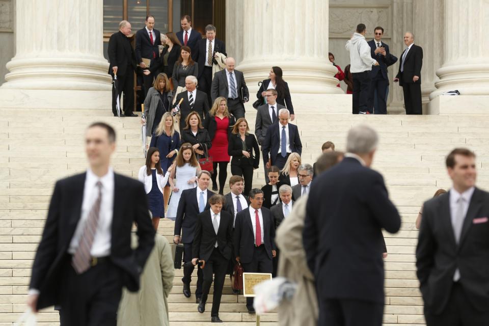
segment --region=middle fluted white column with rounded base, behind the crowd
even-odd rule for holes
[[[328,60],[328,0],[247,0],[241,6],[245,32],[237,68],[250,85],[279,66],[292,93],[343,93]]]

